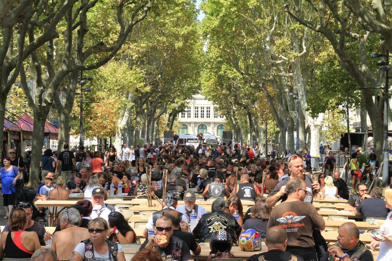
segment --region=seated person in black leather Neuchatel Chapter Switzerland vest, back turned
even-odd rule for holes
[[[201,216],[199,223],[193,230],[193,235],[199,243],[211,238],[217,230],[225,230],[233,239],[241,234],[241,226],[237,220],[229,214],[229,205],[223,198],[215,199],[211,205],[211,213]]]

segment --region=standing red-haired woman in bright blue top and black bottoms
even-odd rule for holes
[[[1,174],[1,184],[0,188],[3,193],[3,205],[5,207],[5,217],[7,219],[9,213],[11,213],[14,208],[14,199],[12,196],[12,192],[15,192],[15,184],[16,181],[20,178],[20,172],[18,166],[11,165],[11,159],[5,157],[3,159],[4,167],[0,169]],[[11,191],[12,190],[12,191]]]

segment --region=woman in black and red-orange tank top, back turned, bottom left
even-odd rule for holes
[[[16,208],[8,218],[10,232],[0,237],[0,258],[31,258],[34,251],[41,248],[38,235],[34,231],[24,231],[27,227],[27,214],[23,208]]]

